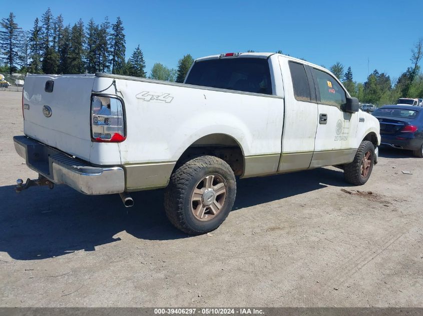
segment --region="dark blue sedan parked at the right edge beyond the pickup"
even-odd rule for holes
[[[371,114],[379,120],[381,144],[423,158],[423,107],[384,105]]]

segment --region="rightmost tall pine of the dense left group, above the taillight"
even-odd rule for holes
[[[118,16],[116,23],[112,24],[111,44],[110,50],[112,52],[111,66],[112,73],[121,73],[125,66],[125,51],[126,40],[123,27],[123,22]]]

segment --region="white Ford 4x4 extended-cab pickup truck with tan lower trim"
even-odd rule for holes
[[[15,148],[39,179],[90,195],[165,189],[169,220],[216,229],[236,177],[336,165],[364,184],[379,122],[328,70],[275,53],[199,58],[183,84],[107,73],[29,75]]]

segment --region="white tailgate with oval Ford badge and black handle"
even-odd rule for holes
[[[29,75],[24,85],[25,135],[89,161],[94,78],[93,74]]]

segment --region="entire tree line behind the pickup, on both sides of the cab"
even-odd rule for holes
[[[77,74],[100,71],[145,78],[146,63],[140,45],[129,59],[125,59],[124,31],[119,16],[115,23],[105,17],[101,23],[91,18],[87,25],[82,19],[73,25],[65,25],[62,14],[55,17],[50,8],[41,19],[35,19],[31,30],[23,30],[11,12],[0,21],[0,56],[4,62],[0,63],[0,72]],[[353,80],[351,67],[345,71],[343,64],[336,62],[329,69],[362,103],[382,105],[394,103],[399,97],[421,98],[423,74],[419,62],[423,57],[422,42],[419,39],[412,47],[411,64],[397,79],[375,69],[365,82],[357,82]],[[176,69],[157,62],[151,68],[149,78],[183,82],[193,60],[190,54],[184,55]]]

